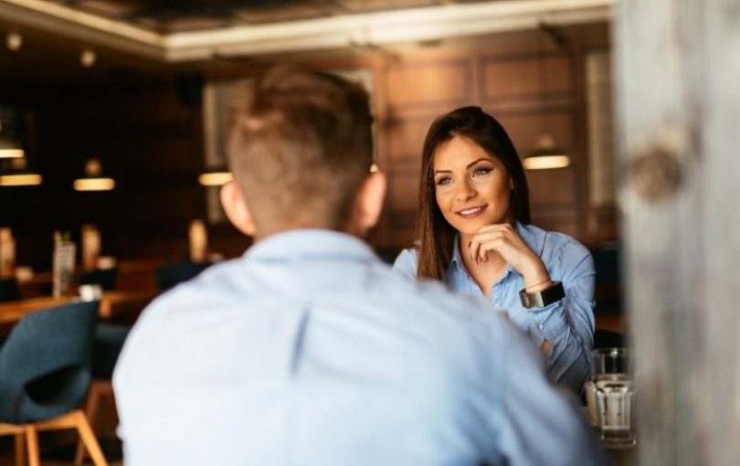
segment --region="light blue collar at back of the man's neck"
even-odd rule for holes
[[[375,259],[375,252],[365,241],[347,233],[329,229],[293,229],[260,239],[244,253],[248,260],[294,259],[296,257],[343,257]]]

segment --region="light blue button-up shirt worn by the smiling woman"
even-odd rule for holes
[[[516,231],[540,256],[550,278],[563,283],[566,298],[542,308],[525,309],[519,297],[524,279],[507,264],[487,299],[506,308],[512,322],[532,334],[538,346],[544,340],[553,344],[547,358],[547,372],[558,384],[579,394],[589,373],[594,346],[594,260],[586,247],[562,233],[520,223],[516,224]],[[445,282],[452,291],[483,296],[460,258],[459,243],[455,238]],[[403,250],[394,264],[409,279],[416,279],[417,267],[416,249]]]

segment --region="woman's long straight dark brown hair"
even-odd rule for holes
[[[501,123],[480,107],[461,107],[440,116],[429,127],[421,158],[416,225],[419,279],[443,281],[452,259],[456,232],[437,205],[433,170],[439,147],[455,136],[480,145],[506,167],[513,181],[509,205],[513,219],[525,225],[530,223],[529,188],[522,161]]]

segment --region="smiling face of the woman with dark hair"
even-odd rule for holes
[[[440,145],[432,172],[439,210],[461,234],[511,220],[509,173],[470,139],[455,136]]]

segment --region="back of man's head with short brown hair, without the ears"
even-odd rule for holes
[[[280,67],[254,83],[229,141],[257,227],[342,229],[372,164],[372,117],[358,84]]]

